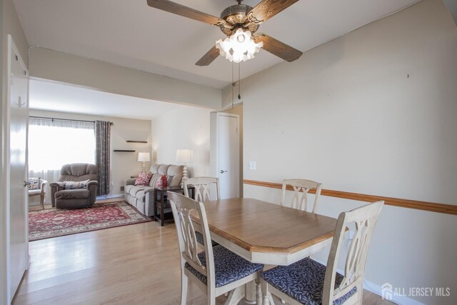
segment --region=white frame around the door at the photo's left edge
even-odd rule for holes
[[[26,75],[29,76],[29,69],[27,69],[26,64],[22,60],[21,54],[19,53],[19,49],[17,49],[16,44],[14,44],[14,41],[11,37],[11,35],[8,35],[8,54],[7,54],[7,75],[6,75],[6,99],[2,99],[2,104],[1,104],[1,132],[4,136],[2,136],[2,141],[1,141],[1,157],[2,157],[2,164],[4,167],[2,167],[1,171],[1,232],[0,232],[0,237],[1,237],[1,249],[0,249],[0,266],[1,269],[3,269],[5,272],[4,274],[1,274],[0,278],[0,285],[1,287],[1,298],[0,298],[0,304],[10,304],[11,299],[13,296],[11,296],[11,276],[10,276],[10,179],[11,179],[11,172],[10,172],[10,121],[11,121],[11,116],[10,116],[10,104],[11,104],[11,99],[10,99],[10,94],[11,94],[11,59],[13,56],[13,51],[15,56],[18,57],[19,64],[21,64],[22,69],[26,72]],[[3,72],[2,72],[3,73]],[[27,101],[26,101],[27,107],[29,106],[29,92],[27,92]],[[26,133],[28,134],[28,124],[27,124],[27,129]],[[28,164],[27,164],[27,154],[28,151],[26,149],[26,171],[28,169]],[[27,173],[25,173],[27,175]],[[26,270],[29,269],[29,226],[28,226],[28,211],[29,211],[29,203],[28,203],[28,196],[25,196],[25,202],[24,204],[26,205]],[[3,290],[5,289],[5,290]]]

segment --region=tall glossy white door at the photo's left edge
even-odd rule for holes
[[[28,268],[27,126],[29,76],[9,36],[9,274],[10,299]]]

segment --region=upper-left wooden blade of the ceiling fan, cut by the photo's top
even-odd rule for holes
[[[190,7],[177,4],[176,2],[169,0],[147,0],[148,5],[154,7],[155,9],[161,9],[162,11],[168,11],[169,13],[176,14],[179,16],[184,16],[196,21],[201,21],[206,24],[212,24],[214,26],[225,26],[226,21],[206,14],[202,11],[197,11],[196,9],[191,9]]]

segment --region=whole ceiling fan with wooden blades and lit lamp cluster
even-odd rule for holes
[[[236,0],[238,4],[224,9],[221,13],[221,18],[169,0],[147,1],[149,6],[156,9],[219,26],[219,29],[228,36],[224,40],[216,41],[216,45],[196,62],[197,66],[208,66],[219,55],[226,57],[230,61],[246,61],[253,58],[253,54],[257,53],[262,47],[286,61],[294,61],[303,54],[303,52],[267,34],[255,34],[261,23],[280,13],[283,9],[287,9],[288,6],[298,0],[262,0],[255,7],[241,4],[243,0]]]

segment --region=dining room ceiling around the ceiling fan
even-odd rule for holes
[[[175,0],[214,16],[236,1]],[[255,6],[259,0],[243,4]],[[301,0],[259,32],[306,51],[417,0]],[[195,62],[224,38],[216,27],[153,9],[146,0],[14,0],[29,44],[108,61],[217,88],[231,83],[231,63]],[[262,50],[241,64],[241,77],[283,60]]]

